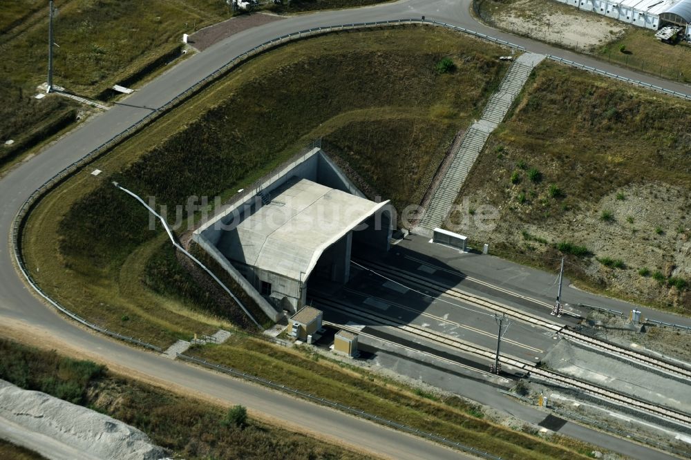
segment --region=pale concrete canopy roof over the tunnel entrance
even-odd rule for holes
[[[305,281],[325,249],[387,205],[301,179],[225,232],[219,249],[233,260]]]

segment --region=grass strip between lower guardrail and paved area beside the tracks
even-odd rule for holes
[[[507,459],[578,458],[593,450],[564,437],[536,437],[485,419],[477,406],[455,396],[411,389],[359,367],[325,359],[309,347],[283,349],[255,338],[235,335],[223,345],[194,347],[188,354],[331,401],[439,433]]]

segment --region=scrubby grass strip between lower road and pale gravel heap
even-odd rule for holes
[[[153,443],[184,459],[365,459],[351,452],[249,418],[244,426],[225,425],[227,409],[180,396],[108,372],[91,361],[77,361],[0,338],[0,378],[27,390],[67,399],[146,433]],[[67,388],[68,390],[64,390]],[[0,455],[23,450],[0,442]]]

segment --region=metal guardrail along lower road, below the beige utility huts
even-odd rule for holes
[[[303,398],[310,400],[310,401],[314,401],[315,403],[328,405],[332,408],[340,409],[340,410],[343,410],[344,412],[349,412],[350,414],[361,416],[364,419],[377,421],[383,425],[388,425],[392,428],[397,428],[398,430],[401,430],[401,431],[416,434],[417,436],[422,436],[422,437],[425,437],[427,439],[430,439],[431,441],[437,441],[438,443],[446,444],[446,445],[449,445],[451,447],[463,450],[465,452],[471,452],[475,455],[479,455],[480,457],[484,457],[486,459],[501,460],[501,458],[502,458],[502,457],[496,457],[495,455],[492,455],[489,452],[482,452],[482,450],[477,450],[475,448],[471,448],[468,445],[457,443],[456,441],[451,441],[451,439],[446,439],[445,437],[439,436],[439,434],[433,434],[430,432],[420,431],[420,430],[417,430],[416,428],[410,427],[408,425],[404,425],[403,423],[397,423],[397,422],[392,421],[392,420],[384,419],[384,418],[377,416],[375,414],[370,414],[369,412],[365,412],[363,410],[353,408],[350,405],[343,405],[341,403],[337,403],[336,401],[330,401],[328,399],[320,398],[319,396],[316,396],[315,394],[312,394],[312,393],[301,392],[300,390],[296,390],[294,388],[287,387],[285,385],[281,385],[281,383],[276,383],[274,381],[267,380],[266,378],[261,378],[261,377],[254,376],[252,374],[247,374],[247,372],[241,372],[239,370],[233,369],[232,367],[225,367],[225,366],[218,365],[215,363],[209,363],[209,361],[206,361],[206,360],[203,360],[200,358],[195,358],[193,356],[187,356],[184,354],[179,354],[179,353],[178,353],[178,358],[181,358],[183,361],[187,361],[189,363],[195,363],[198,365],[202,365],[204,367],[209,367],[209,369],[217,370],[217,371],[223,372],[224,374],[229,374],[232,376],[245,378],[246,380],[249,380],[249,381],[252,381],[255,383],[261,383],[262,385],[272,387],[272,388],[274,388],[276,390],[280,390],[282,392],[287,392],[290,394],[295,394],[297,396],[302,396]]]

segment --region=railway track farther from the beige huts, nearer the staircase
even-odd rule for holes
[[[598,349],[602,352],[623,357],[629,361],[634,361],[647,367],[652,367],[661,372],[665,372],[665,374],[674,376],[675,378],[680,378],[686,381],[691,379],[691,367],[670,363],[669,361],[665,361],[641,352],[636,352],[632,349],[622,347],[621,345],[616,345],[615,343],[586,336],[585,334],[576,332],[573,329],[569,329],[567,325],[558,324],[549,319],[540,318],[540,316],[522,312],[519,309],[510,307],[509,305],[504,305],[475,294],[469,294],[468,292],[458,289],[457,287],[443,285],[442,283],[430,280],[424,276],[412,274],[408,271],[399,271],[376,262],[358,260],[357,262],[353,263],[354,265],[361,267],[362,269],[370,270],[379,276],[384,276],[385,278],[391,278],[392,280],[400,282],[406,287],[410,287],[411,285],[415,287],[415,285],[417,285],[417,287],[422,289],[428,289],[438,294],[444,294],[452,298],[457,298],[458,300],[462,300],[464,303],[470,305],[489,309],[499,314],[506,314],[507,316],[520,320],[524,323],[549,329],[556,334],[569,338],[571,341],[576,341],[588,347]]]

